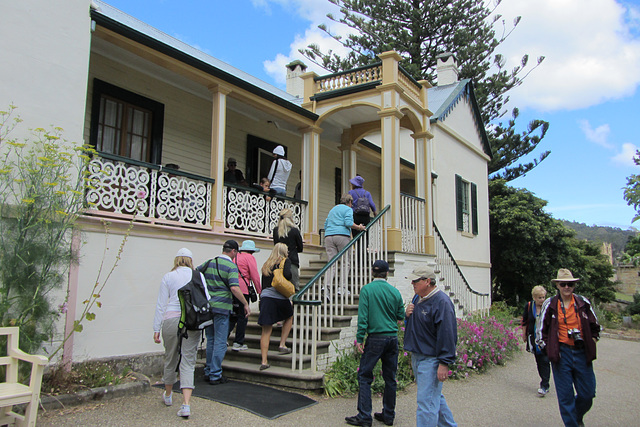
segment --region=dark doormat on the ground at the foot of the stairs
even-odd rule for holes
[[[164,388],[164,384],[153,386]],[[192,396],[235,406],[270,420],[318,403],[299,393],[244,381],[229,380],[225,384],[211,385],[196,376],[194,386]],[[179,381],[174,384],[173,391],[180,392]]]

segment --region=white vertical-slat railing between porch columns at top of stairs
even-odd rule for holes
[[[400,230],[402,251],[413,254],[426,253],[426,202],[408,194],[400,195]]]

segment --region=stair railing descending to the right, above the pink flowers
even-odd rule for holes
[[[440,271],[439,277],[444,282],[445,289],[450,292],[450,295],[453,294],[452,298],[456,303],[456,309],[461,309],[463,313],[477,312],[488,315],[491,304],[490,295],[478,292],[469,285],[435,224],[433,224],[433,229],[435,232],[436,265]]]

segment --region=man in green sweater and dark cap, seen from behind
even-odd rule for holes
[[[384,394],[382,412],[374,418],[391,426],[396,408],[396,371],[398,370],[398,321],[404,320],[404,303],[400,291],[387,282],[389,264],[377,260],[372,267],[373,281],[362,287],[358,305],[358,332],[356,348],[362,354],[358,369],[358,415],[346,417],[347,424],[370,426],[371,383],[373,368],[382,360]],[[366,344],[364,337],[367,335]]]

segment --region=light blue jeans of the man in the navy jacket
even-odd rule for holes
[[[439,364],[433,356],[411,353],[411,366],[418,385],[416,425],[420,427],[457,426],[442,395],[442,383],[438,381]]]

